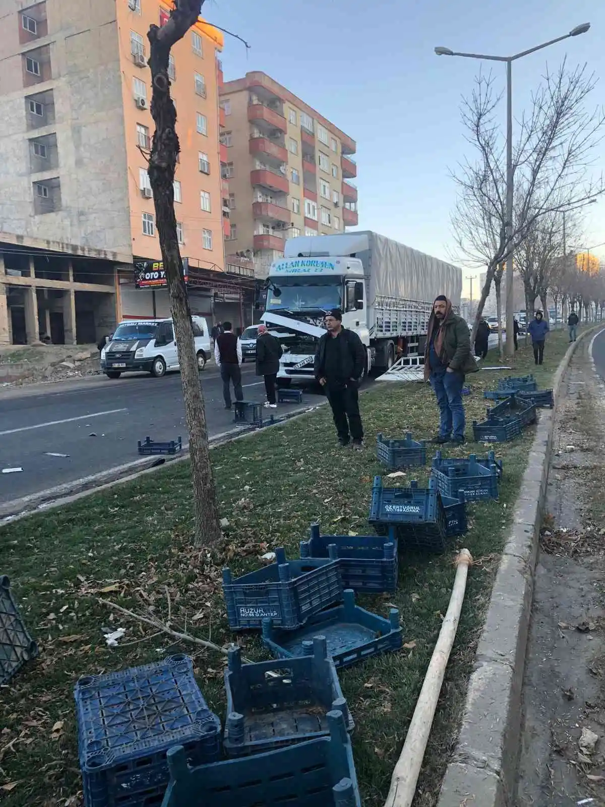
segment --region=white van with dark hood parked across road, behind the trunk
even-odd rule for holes
[[[210,332],[202,316],[192,316],[198,370],[211,356]],[[101,351],[101,372],[107,378],[147,371],[161,378],[167,370],[179,370],[173,320],[124,320]]]

